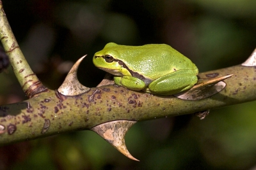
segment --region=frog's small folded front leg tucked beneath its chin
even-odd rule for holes
[[[132,76],[115,76],[114,81],[117,85],[131,90],[143,90],[146,88],[144,81]]]

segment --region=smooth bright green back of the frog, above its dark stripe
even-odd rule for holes
[[[187,57],[165,44],[150,44],[143,46],[118,46],[116,49],[121,60],[126,60],[126,66],[152,79],[163,74],[169,74],[180,69],[198,69]]]

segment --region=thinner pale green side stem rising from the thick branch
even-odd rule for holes
[[[12,29],[4,13],[2,1],[0,1],[0,38],[4,50],[9,56],[13,71],[26,96],[32,97],[38,92],[47,90],[33,73],[27,60],[20,50]]]

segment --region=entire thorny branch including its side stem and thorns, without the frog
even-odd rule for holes
[[[26,62],[8,24],[1,1],[0,8],[0,38],[20,86],[30,98],[20,103],[0,106],[0,145],[61,132],[99,129],[98,134],[108,139],[127,157],[134,159],[126,150],[124,135],[118,139],[120,142],[116,141],[119,134],[116,135],[115,131],[109,132],[109,129],[113,129],[112,125],[114,129],[120,125],[131,127],[138,121],[204,112],[256,99],[256,50],[241,65],[199,73],[198,78],[202,79],[230,74],[234,76],[225,80],[225,89],[211,97],[195,101],[182,100],[175,96],[134,92],[116,85],[89,89],[77,80],[79,63],[72,68],[60,89],[48,90]],[[129,121],[120,124],[120,120]],[[102,126],[99,128],[99,125]],[[107,128],[106,131],[102,130],[103,127]],[[127,129],[122,133],[125,134]]]

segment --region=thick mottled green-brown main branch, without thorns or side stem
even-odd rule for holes
[[[77,96],[49,90],[27,101],[0,107],[0,145],[51,136],[61,132],[91,129],[113,120],[173,117],[256,99],[256,67],[233,66],[200,73],[200,78],[234,74],[214,96],[186,101],[173,96],[155,96],[106,85]]]

